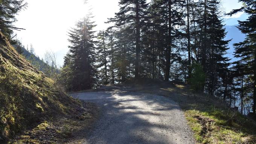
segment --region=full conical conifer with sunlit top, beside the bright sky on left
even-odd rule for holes
[[[69,32],[70,55],[73,59],[72,89],[81,91],[91,89],[96,85],[95,66],[95,45],[94,31],[95,25],[90,21],[91,16],[87,15],[78,21],[76,27]]]

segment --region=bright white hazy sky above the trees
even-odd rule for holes
[[[118,12],[119,0],[89,0],[84,5],[84,0],[25,0],[27,9],[17,16],[15,26],[24,28],[17,33],[25,47],[33,45],[36,55],[44,57],[46,50],[57,53],[59,65],[63,63],[63,56],[67,53],[69,42],[67,32],[80,18],[87,14],[88,6],[95,16],[93,21],[98,25],[95,30],[104,30],[109,25],[104,22],[107,18],[114,17]],[[238,0],[222,0],[223,10],[229,12],[241,7]],[[239,18],[242,13],[232,18]],[[227,17],[226,17],[227,18]],[[233,25],[233,23],[228,23]]]

